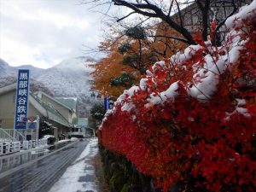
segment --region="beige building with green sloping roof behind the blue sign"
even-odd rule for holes
[[[0,88],[0,127],[5,130],[14,129],[15,122],[15,95],[16,84]],[[42,91],[30,93],[28,97],[28,117],[40,118],[40,125],[50,127],[52,134],[57,139],[67,138],[67,133],[72,131],[73,119],[77,118],[75,111],[55,98]],[[39,128],[41,133],[44,127]],[[33,131],[26,131],[28,139],[34,139]]]

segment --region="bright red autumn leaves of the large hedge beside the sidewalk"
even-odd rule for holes
[[[232,69],[218,69],[217,90],[212,96],[205,94],[207,101],[188,95],[191,86],[204,80],[193,77],[194,64],[204,67],[205,55],[210,55],[217,67],[237,36],[226,38],[222,48],[196,36],[201,49],[177,65],[169,60],[155,64],[149,69],[153,76],[145,77],[147,88],[124,94],[102,123],[102,145],[124,154],[165,192],[175,183],[192,191],[256,189],[256,25],[253,20],[242,23],[236,30],[243,31],[241,42],[247,41],[241,44],[240,57],[235,63],[228,61]],[[152,96],[161,98],[160,92],[174,82],[178,96],[148,102]],[[132,103],[131,110],[122,109],[127,103]]]

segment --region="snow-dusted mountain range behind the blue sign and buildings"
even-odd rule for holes
[[[93,68],[92,61],[87,57],[76,57],[61,61],[60,64],[49,69],[41,69],[32,66],[10,67],[0,59],[0,87],[14,83],[17,71],[20,68],[28,68],[31,71],[33,90],[43,90],[52,96],[77,96],[79,98],[80,116],[89,113],[90,98],[90,73]]]

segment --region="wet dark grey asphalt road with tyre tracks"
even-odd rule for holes
[[[0,192],[48,192],[65,172],[67,166],[79,157],[89,141],[68,144],[58,151],[32,160],[9,172],[0,173]]]

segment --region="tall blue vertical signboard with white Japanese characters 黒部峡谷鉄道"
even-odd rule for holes
[[[17,79],[17,91],[15,102],[15,129],[26,129],[26,114],[29,95],[29,70],[20,69]]]

